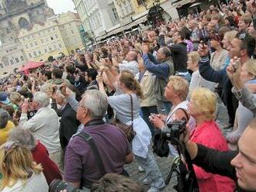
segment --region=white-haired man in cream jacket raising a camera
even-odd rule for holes
[[[36,92],[33,94],[33,107],[36,108],[36,115],[28,120],[27,112],[29,103],[27,100],[22,105],[22,115],[19,125],[22,129],[29,129],[47,147],[52,159],[61,167],[61,144],[59,138],[59,121],[54,109],[48,107],[50,98],[46,93]]]

